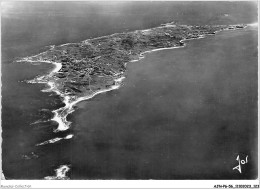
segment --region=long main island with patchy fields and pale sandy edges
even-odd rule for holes
[[[184,40],[214,35],[218,31],[243,29],[246,25],[187,26],[163,24],[147,30],[116,33],[87,39],[79,43],[52,46],[19,62],[46,62],[56,67],[48,75],[31,80],[47,83],[63,98],[65,106],[53,111],[52,120],[59,123],[55,131],[64,131],[71,124],[66,120],[73,106],[82,100],[119,88],[125,78],[126,64],[143,58],[143,54],[165,48],[184,47]]]

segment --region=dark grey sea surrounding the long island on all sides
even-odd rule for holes
[[[12,63],[46,45],[172,20],[188,24],[255,21],[252,4],[231,3],[235,8],[228,9],[229,4],[222,8],[218,4],[216,9],[210,4],[185,3],[16,2],[4,10],[1,124],[7,179],[42,179],[64,164],[71,165],[71,179],[255,178],[254,30],[189,41],[185,49],[154,52],[128,64],[124,86],[80,103],[70,115],[73,124],[66,133],[53,133],[54,122],[32,124],[50,119],[51,110],[62,104],[58,96],[40,91],[45,86],[21,82],[47,73],[51,65]],[[250,11],[240,11],[241,16],[237,10],[242,9]],[[231,16],[224,19],[223,13]],[[191,15],[196,15],[194,20]],[[68,133],[74,138],[35,146]],[[232,170],[238,154],[250,158],[243,174]]]

